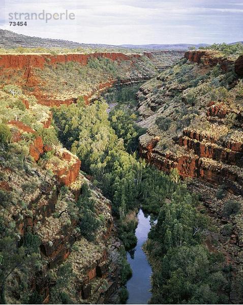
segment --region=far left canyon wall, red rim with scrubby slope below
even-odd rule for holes
[[[17,84],[46,106],[70,105],[78,97],[89,103],[118,79],[120,84],[150,79],[158,63],[163,66],[167,58],[174,62],[180,56],[179,52],[2,54],[0,79],[2,86]]]

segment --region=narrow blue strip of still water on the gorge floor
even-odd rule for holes
[[[133,271],[132,278],[127,282],[129,292],[127,304],[147,304],[152,296],[149,292],[151,288],[150,276],[152,270],[142,250],[142,245],[146,241],[151,227],[149,221],[150,216],[145,218],[142,209],[140,209],[136,229],[137,246],[127,252],[127,259]]]

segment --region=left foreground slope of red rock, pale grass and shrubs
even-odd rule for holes
[[[43,303],[53,301],[50,294],[58,282],[56,275],[66,262],[73,277],[64,290],[73,302],[107,302],[119,287],[120,243],[113,229],[111,203],[80,172],[81,161],[53,137],[49,141],[54,134],[50,109],[37,104],[34,97],[6,91],[0,90],[0,135],[3,142],[7,134],[9,144],[1,143],[0,193],[11,199],[3,221],[6,228],[14,224],[19,243],[26,236],[37,236],[41,254],[40,270],[26,287],[20,287],[24,270],[16,268],[11,273],[6,300],[26,302],[34,294]],[[94,240],[84,238],[74,217],[84,185],[100,223]]]

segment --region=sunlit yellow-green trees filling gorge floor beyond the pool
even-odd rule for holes
[[[82,169],[94,176],[95,184],[111,199],[117,217],[124,218],[138,201],[148,210],[151,206],[150,210],[158,211],[160,198],[173,189],[171,179],[137,160],[136,153],[128,153],[135,149],[139,135],[136,115],[118,107],[108,119],[106,109],[105,102],[85,106],[81,100],[77,105],[55,108],[59,138],[77,154]]]

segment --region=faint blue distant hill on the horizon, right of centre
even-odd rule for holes
[[[209,44],[199,43],[199,44],[188,44],[188,43],[179,43],[179,44],[148,44],[148,45],[132,45],[125,44],[120,45],[123,48],[131,48],[131,49],[157,49],[157,50],[187,50],[190,47],[206,47]]]

